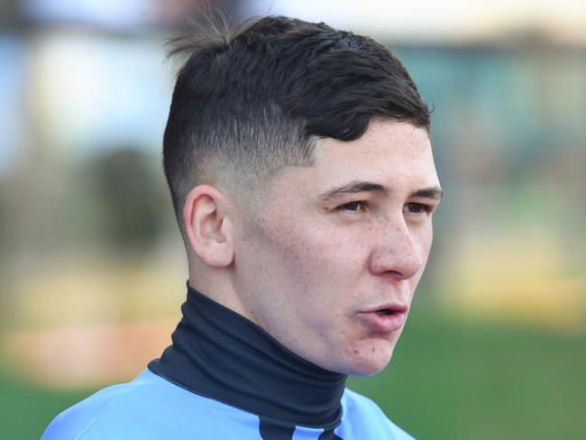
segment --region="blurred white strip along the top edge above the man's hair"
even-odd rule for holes
[[[518,32],[586,42],[582,0],[254,0],[253,14],[283,14],[398,40],[462,41]]]

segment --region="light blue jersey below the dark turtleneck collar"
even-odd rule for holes
[[[132,382],[98,391],[61,413],[41,440],[413,438],[393,425],[370,399],[348,389],[342,397],[341,423],[333,433],[306,426],[295,426],[292,433],[284,426],[279,432],[277,426],[274,434],[265,436],[260,429],[259,416],[198,396],[145,370]]]

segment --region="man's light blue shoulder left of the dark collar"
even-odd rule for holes
[[[96,392],[50,423],[41,440],[213,438],[222,419],[241,427],[250,416],[184,390],[149,370],[135,380]],[[209,436],[211,435],[211,436]]]

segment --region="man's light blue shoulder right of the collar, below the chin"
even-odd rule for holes
[[[376,403],[353,390],[344,390],[342,411],[340,428],[343,431],[340,434],[346,435],[341,435],[343,438],[413,440],[411,435],[391,422]]]

